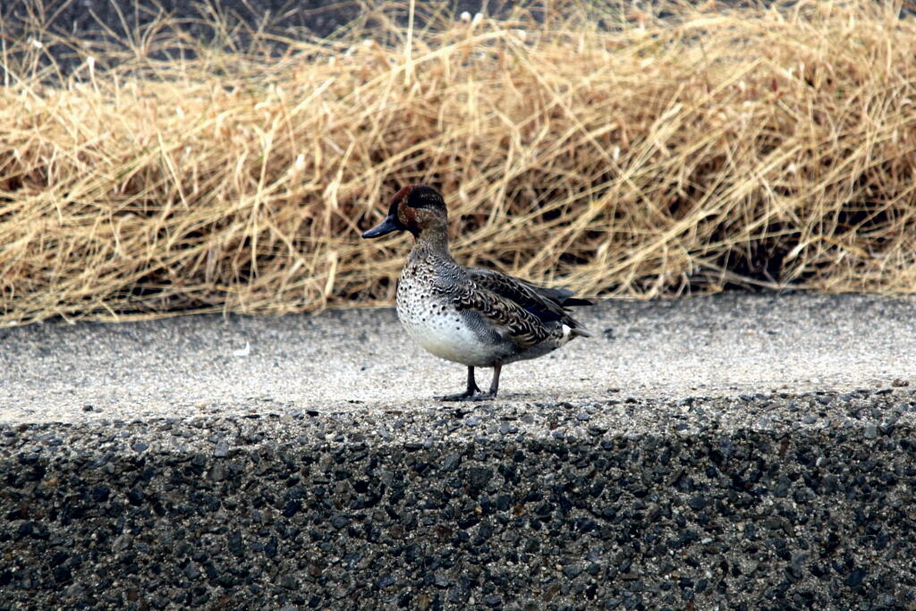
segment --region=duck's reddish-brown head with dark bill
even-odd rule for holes
[[[442,195],[426,185],[408,185],[395,193],[388,215],[363,237],[381,237],[396,231],[409,231],[414,237],[444,234],[448,215]]]

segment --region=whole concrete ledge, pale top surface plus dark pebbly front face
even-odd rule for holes
[[[604,304],[476,405],[390,311],[0,330],[0,609],[913,608],[914,311]]]

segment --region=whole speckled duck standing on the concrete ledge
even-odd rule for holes
[[[442,194],[422,184],[401,188],[385,219],[365,239],[409,232],[414,245],[397,289],[398,319],[427,352],[467,366],[462,393],[442,401],[496,398],[502,367],[546,355],[576,337],[591,337],[569,308],[593,302],[568,289],[548,289],[483,267],[457,263],[449,251],[448,213]],[[492,367],[489,390],[474,368]]]

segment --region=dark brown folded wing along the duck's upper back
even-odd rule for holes
[[[523,310],[537,316],[542,322],[560,321],[575,329],[581,327],[567,313],[573,306],[592,305],[589,300],[573,297],[569,289],[548,289],[527,280],[502,274],[493,269],[466,267],[468,278],[477,286],[518,304]]]

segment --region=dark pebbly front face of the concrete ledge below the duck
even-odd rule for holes
[[[914,423],[888,387],[6,424],[0,608],[912,608]]]

